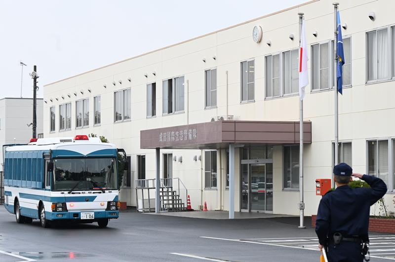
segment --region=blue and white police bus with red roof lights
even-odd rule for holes
[[[109,219],[118,218],[118,150],[113,144],[76,135],[31,139],[3,151],[4,203],[17,223],[39,219],[44,228],[55,221],[107,227]]]

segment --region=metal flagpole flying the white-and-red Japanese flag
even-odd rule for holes
[[[298,13],[299,15],[299,47],[301,45],[302,38],[302,21],[304,13]],[[300,143],[299,143],[299,211],[300,211],[300,225],[299,229],[305,229],[304,226],[304,209],[305,203],[303,202],[303,99],[299,99],[299,134],[300,134]]]

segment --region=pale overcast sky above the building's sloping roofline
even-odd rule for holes
[[[0,0],[0,98],[306,1]]]

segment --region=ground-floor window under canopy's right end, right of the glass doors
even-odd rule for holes
[[[299,189],[299,146],[284,146],[284,189]]]

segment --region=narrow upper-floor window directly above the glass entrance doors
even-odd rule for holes
[[[254,100],[255,66],[254,60],[241,62],[241,102]]]

